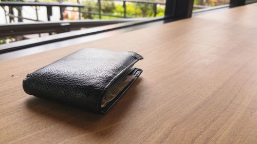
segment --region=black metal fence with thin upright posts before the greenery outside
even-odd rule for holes
[[[108,14],[108,13],[102,13],[102,7],[101,7],[101,2],[103,1],[108,1],[108,2],[122,2],[123,3],[123,15],[113,15],[113,14]],[[85,14],[92,14],[92,15],[98,15],[99,19],[102,18],[102,16],[111,16],[111,17],[119,17],[119,18],[132,18],[127,16],[127,11],[126,11],[126,4],[127,3],[142,3],[142,4],[150,4],[153,5],[153,16],[156,17],[157,15],[157,5],[165,5],[166,3],[164,2],[151,2],[151,1],[142,1],[142,0],[96,0],[96,3],[98,5],[98,11],[97,12],[91,12],[91,11],[85,11],[82,10],[84,8],[84,5],[81,4],[66,4],[66,3],[42,3],[42,2],[0,2],[0,6],[4,9],[4,6],[8,6],[9,10],[12,9],[13,7],[22,7],[22,6],[32,6],[35,7],[35,13],[36,13],[36,19],[31,19],[31,18],[26,18],[23,17],[22,15],[15,16],[12,12],[6,13],[6,10],[4,9],[5,16],[10,17],[13,19],[14,17],[18,19],[28,19],[32,21],[38,21],[39,20],[39,15],[38,15],[38,7],[39,6],[45,6],[47,9],[47,20],[50,21],[50,16],[52,15],[52,7],[59,7],[60,8],[60,20],[63,20],[63,11],[65,7],[77,7],[79,10],[71,10],[74,12],[79,12],[79,19],[81,19],[81,13]],[[203,9],[207,8],[207,6],[200,6],[200,5],[194,5],[194,8],[197,9]],[[22,20],[21,20],[22,21]],[[7,23],[7,18],[6,18],[6,23]]]

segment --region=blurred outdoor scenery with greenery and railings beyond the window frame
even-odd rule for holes
[[[193,10],[228,5],[229,2],[230,0],[194,0]],[[107,24],[132,22],[142,20],[141,18],[163,17],[165,4],[164,0],[2,0],[0,27],[2,26],[2,30],[20,30],[0,34],[0,44]],[[26,27],[30,25],[26,24],[31,23],[39,24],[39,29],[44,26],[44,30],[28,32]],[[72,28],[50,30],[54,24],[72,24]]]

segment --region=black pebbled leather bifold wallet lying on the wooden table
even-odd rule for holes
[[[135,52],[81,49],[27,75],[27,94],[106,113],[134,83],[142,70],[133,65]]]

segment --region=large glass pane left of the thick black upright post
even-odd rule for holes
[[[0,0],[6,2],[8,0]],[[0,7],[0,25],[61,22],[61,20],[117,20],[127,18],[154,18],[164,16],[165,0],[21,0],[22,2],[38,2],[48,4],[81,5],[77,6],[2,6]],[[17,2],[10,1],[9,2]],[[136,19],[137,20],[137,19]],[[138,19],[142,20],[142,19]],[[69,21],[70,22],[70,21]],[[125,21],[124,21],[125,22]],[[104,25],[104,24],[103,24]],[[107,24],[106,24],[107,25]],[[99,25],[96,25],[99,26]],[[90,27],[94,27],[90,25]],[[76,30],[89,27],[77,27]],[[75,28],[68,29],[68,31]],[[15,42],[63,31],[42,31],[40,33],[26,33],[21,35],[0,36],[0,44]],[[14,32],[15,33],[15,32]]]

